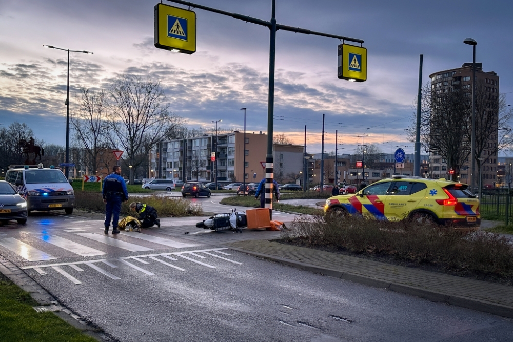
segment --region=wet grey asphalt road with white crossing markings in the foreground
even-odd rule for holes
[[[510,319],[223,249],[215,232],[174,234],[193,220],[105,237],[101,220],[38,213],[0,227],[0,254],[120,341],[513,340]]]

